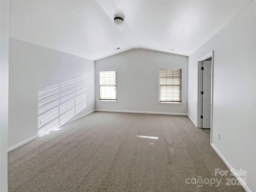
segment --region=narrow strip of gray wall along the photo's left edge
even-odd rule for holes
[[[7,142],[8,142],[8,52],[10,1],[0,1],[0,191],[8,191]]]

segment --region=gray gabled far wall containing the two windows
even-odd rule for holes
[[[159,103],[160,68],[172,67],[183,68],[183,104]],[[99,101],[101,70],[118,71],[118,102]],[[188,57],[175,54],[134,49],[98,60],[95,64],[96,109],[187,114],[187,76]]]

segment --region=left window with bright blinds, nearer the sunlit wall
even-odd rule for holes
[[[117,71],[100,71],[100,100],[117,100]]]

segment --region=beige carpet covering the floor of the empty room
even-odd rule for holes
[[[214,175],[228,168],[187,116],[94,112],[61,128],[8,153],[9,192],[244,191]]]

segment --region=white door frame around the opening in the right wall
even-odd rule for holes
[[[203,81],[203,73],[201,70],[201,67],[203,66],[203,61],[212,58],[212,77],[211,77],[211,123],[210,123],[210,143],[212,143],[212,95],[213,95],[213,62],[214,62],[214,51],[211,51],[210,53],[202,56],[199,58],[198,61],[198,89],[197,89],[197,126],[198,128],[202,128],[202,120],[201,120],[201,109],[202,109],[202,94],[201,94],[201,87],[202,87],[202,81]]]

